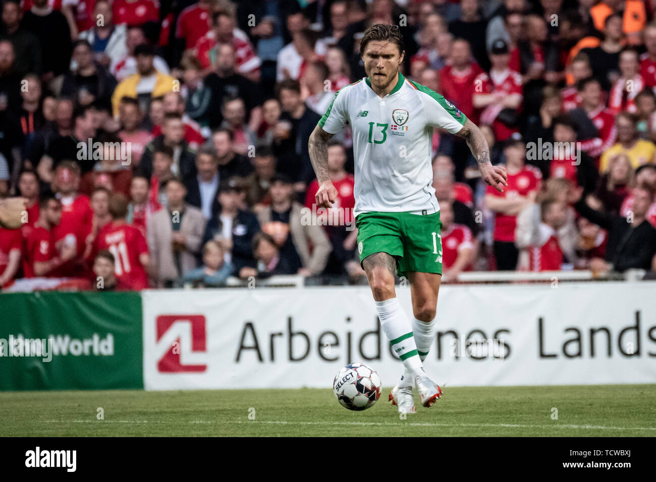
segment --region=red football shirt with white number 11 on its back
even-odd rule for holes
[[[133,290],[148,288],[148,275],[139,260],[141,254],[148,254],[148,245],[146,237],[138,228],[115,222],[106,224],[96,237],[93,254],[101,249],[114,255],[114,273],[121,283]]]

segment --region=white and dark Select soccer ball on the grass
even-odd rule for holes
[[[333,380],[337,401],[349,410],[366,410],[380,398],[380,377],[364,363],[350,363]]]

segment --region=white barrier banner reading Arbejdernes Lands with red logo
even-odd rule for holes
[[[355,361],[384,386],[401,374],[368,287],[142,296],[146,390],[329,388]],[[443,286],[424,367],[448,386],[655,383],[656,283]]]

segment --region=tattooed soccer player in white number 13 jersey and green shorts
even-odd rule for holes
[[[360,262],[382,330],[404,367],[390,399],[400,412],[414,413],[413,386],[424,407],[441,396],[422,367],[436,333],[442,272],[440,207],[431,186],[433,128],[466,140],[487,184],[501,191],[506,173],[490,163],[487,142],[472,121],[443,96],[400,73],[405,50],[397,26],[369,27],[360,54],[368,77],[335,94],[310,136],[310,159],[319,182],[316,203],[330,208],[337,199],[327,142],[348,124],[353,130]],[[397,270],[410,281],[412,323],[394,291]]]

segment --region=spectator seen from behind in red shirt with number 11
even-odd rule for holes
[[[127,224],[128,201],[122,194],[110,198],[112,222],[100,230],[92,249],[92,258],[102,249],[115,258],[114,274],[124,285],[135,291],[148,288],[146,269],[150,264],[146,237],[135,226]]]

